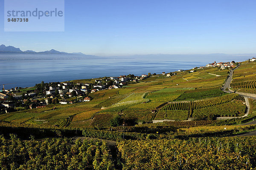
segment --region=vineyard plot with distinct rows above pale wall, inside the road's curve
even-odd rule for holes
[[[201,101],[172,102],[157,112],[155,119],[186,120],[210,114],[223,117],[243,115],[246,109],[244,97],[230,94]]]

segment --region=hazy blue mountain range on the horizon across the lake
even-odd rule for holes
[[[213,62],[213,61],[244,61],[255,57],[256,54],[149,54],[149,55],[127,55],[127,56],[108,56],[99,57],[95,55],[85,55],[81,52],[59,52],[55,49],[44,52],[35,52],[32,50],[21,51],[14,46],[0,46],[0,61],[3,60],[79,60],[79,59],[126,59],[128,61],[165,61],[165,63],[174,61],[186,62]]]

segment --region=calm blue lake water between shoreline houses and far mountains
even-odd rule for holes
[[[0,61],[0,84],[29,87],[54,81],[173,72],[205,66],[203,62],[138,61],[132,59],[22,60]],[[2,89],[3,86],[0,86]]]

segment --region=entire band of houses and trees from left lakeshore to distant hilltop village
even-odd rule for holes
[[[256,58],[249,59],[256,61]],[[175,72],[162,72],[162,74],[151,74],[141,76],[121,75],[119,77],[93,78],[88,83],[67,81],[63,83],[50,82],[36,84],[34,87],[0,90],[0,111],[1,113],[15,112],[23,109],[34,109],[46,107],[48,104],[74,104],[88,102],[92,100],[89,94],[99,90],[118,89],[128,84],[139,83],[150,76],[165,75],[171,77],[179,72],[196,72],[197,69],[205,67],[218,67],[219,69],[233,69],[236,67],[235,61],[209,63],[206,66],[194,67],[190,70],[179,69]],[[89,83],[90,82],[90,83]]]

